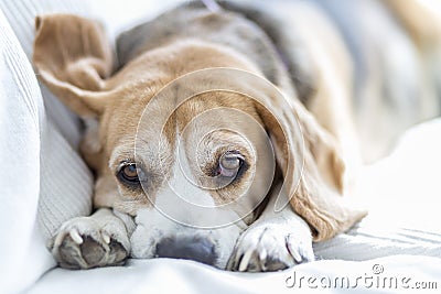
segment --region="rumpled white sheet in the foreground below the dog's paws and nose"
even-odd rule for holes
[[[233,273],[192,261],[135,260],[125,268],[88,271],[57,269],[44,275],[29,294],[342,293],[347,292],[346,285],[357,293],[415,293],[411,291],[415,291],[412,287],[417,286],[417,282],[434,282],[439,291],[440,263],[441,260],[435,258],[396,255],[365,262],[323,260],[277,273]],[[294,273],[297,283],[292,285]],[[308,280],[314,277],[315,281],[310,280],[308,284]],[[391,286],[390,279],[394,281]],[[330,280],[332,286],[327,285]],[[348,282],[341,286],[342,280]]]

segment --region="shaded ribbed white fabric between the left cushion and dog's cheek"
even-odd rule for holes
[[[53,126],[41,133],[41,181],[37,220],[45,240],[60,226],[92,210],[93,176]]]

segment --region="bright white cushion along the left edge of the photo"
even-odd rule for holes
[[[35,221],[43,117],[32,67],[0,11],[0,293],[53,266]]]

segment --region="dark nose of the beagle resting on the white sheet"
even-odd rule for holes
[[[157,244],[158,258],[190,259],[214,265],[215,246],[202,237],[166,237]]]

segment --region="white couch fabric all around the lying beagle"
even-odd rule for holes
[[[86,12],[96,11],[109,34],[116,35],[173,2],[161,1],[159,6],[155,1],[126,0],[123,13],[116,0],[94,0],[87,2],[93,9]],[[342,260],[322,260],[266,274],[228,273],[192,261],[131,260],[127,266],[53,269],[42,275],[54,264],[44,239],[63,219],[87,213],[92,176],[71,148],[79,134],[75,119],[66,122],[65,110],[58,111],[47,98],[44,102],[52,115],[46,118],[26,54],[31,53],[33,15],[37,11],[85,12],[76,6],[86,6],[86,1],[0,0],[0,9],[7,14],[0,11],[0,293],[310,291],[309,286],[286,286],[294,271],[306,279],[348,276],[353,283],[358,276],[409,277],[412,282],[438,282],[441,288],[441,216],[433,205],[441,190],[439,120],[410,131],[391,156],[365,170],[358,196],[372,208],[370,216],[349,232],[314,246],[319,259]],[[376,259],[379,257],[385,258]],[[383,275],[373,273],[375,264],[384,266]],[[323,291],[320,286],[318,290]],[[356,290],[397,293],[404,288],[359,284]],[[326,292],[342,291],[336,287]]]

